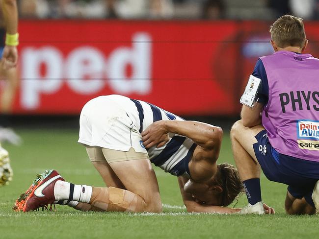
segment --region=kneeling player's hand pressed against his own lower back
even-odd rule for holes
[[[159,148],[169,141],[168,132],[164,127],[164,120],[150,124],[141,135],[143,144],[147,149],[153,146]]]

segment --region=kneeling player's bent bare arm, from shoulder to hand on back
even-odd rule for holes
[[[160,120],[142,132],[142,140],[146,148],[160,147],[168,142],[168,133],[186,136],[198,145],[189,162],[192,179],[198,183],[210,180],[216,171],[216,160],[223,137],[222,129],[198,121]]]

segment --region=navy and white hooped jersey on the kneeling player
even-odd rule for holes
[[[170,112],[167,112],[153,104],[130,99],[125,96],[111,95],[133,120],[135,126],[141,133],[151,123],[158,120],[184,120]],[[173,175],[189,174],[188,162],[196,147],[196,144],[189,138],[169,133],[169,142],[160,148],[153,146],[148,149],[151,162]]]

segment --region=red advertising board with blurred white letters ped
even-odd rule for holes
[[[256,60],[272,53],[268,26],[251,21],[21,21],[22,81],[14,112],[79,114],[93,97],[120,94],[180,115],[236,115]],[[316,54],[318,27],[306,23],[310,52]]]

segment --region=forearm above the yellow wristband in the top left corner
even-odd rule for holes
[[[3,18],[6,24],[8,34],[18,32],[18,10],[16,0],[1,0]]]

